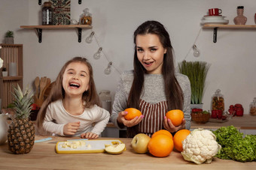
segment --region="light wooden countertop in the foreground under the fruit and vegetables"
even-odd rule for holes
[[[35,136],[35,140],[49,136]],[[135,154],[132,139],[120,139],[126,144],[123,154],[56,154],[56,142],[71,138],[50,136],[47,142],[35,143],[29,154],[11,154],[8,144],[0,145],[0,169],[254,169],[256,162],[239,163],[214,158],[211,164],[197,165],[187,162],[180,153],[172,151],[169,157]],[[72,139],[79,139],[78,137]],[[107,138],[100,138],[107,139]]]

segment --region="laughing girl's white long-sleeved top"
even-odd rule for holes
[[[109,116],[107,110],[96,105],[92,108],[85,108],[81,115],[71,115],[64,109],[62,100],[56,100],[47,106],[43,128],[48,133],[64,136],[65,124],[80,121],[80,127],[74,136],[80,136],[81,133],[87,132],[99,135],[108,124]]]

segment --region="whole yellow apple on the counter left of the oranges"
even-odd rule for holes
[[[138,154],[145,154],[148,152],[148,142],[151,137],[147,136],[144,133],[139,133],[133,137],[132,147],[133,150]]]

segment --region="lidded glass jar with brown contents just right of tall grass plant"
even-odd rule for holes
[[[220,89],[212,95],[212,110],[222,110],[224,112],[224,95],[221,94]]]

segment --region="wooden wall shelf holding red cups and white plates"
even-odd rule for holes
[[[222,24],[205,24],[203,28],[213,28],[213,42],[217,42],[217,31],[221,29],[256,29],[256,25],[222,25]]]

